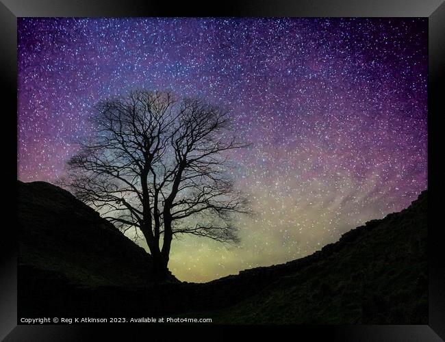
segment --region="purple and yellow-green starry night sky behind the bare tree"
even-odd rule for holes
[[[228,107],[252,142],[241,244],[174,240],[180,280],[304,257],[427,188],[426,18],[19,18],[18,179],[54,182],[92,105],[138,88]]]

